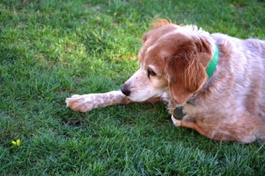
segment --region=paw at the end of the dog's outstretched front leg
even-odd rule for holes
[[[94,104],[92,100],[89,95],[73,95],[66,99],[66,107],[84,113],[93,109]]]

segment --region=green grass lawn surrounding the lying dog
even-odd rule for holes
[[[0,175],[264,175],[265,146],[175,128],[164,104],[76,113],[119,89],[156,18],[265,39],[262,1],[0,1]],[[21,140],[20,147],[11,141]]]

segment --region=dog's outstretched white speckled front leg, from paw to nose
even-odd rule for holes
[[[129,104],[132,101],[121,90],[109,93],[91,93],[86,95],[73,95],[66,99],[66,107],[82,113],[92,109],[112,106],[116,104]]]

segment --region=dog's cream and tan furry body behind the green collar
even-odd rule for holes
[[[250,143],[265,137],[265,42],[211,35],[220,56],[207,90],[198,95],[197,124],[210,138]],[[200,99],[200,100],[199,100]],[[202,101],[203,99],[203,101]],[[188,113],[192,107],[185,107]],[[199,118],[198,118],[199,117]],[[201,117],[201,118],[200,118]]]

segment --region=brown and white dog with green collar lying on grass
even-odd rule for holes
[[[132,102],[167,102],[172,122],[216,141],[265,141],[265,41],[208,33],[160,19],[143,36],[139,70],[121,90],[73,95],[86,112]]]

